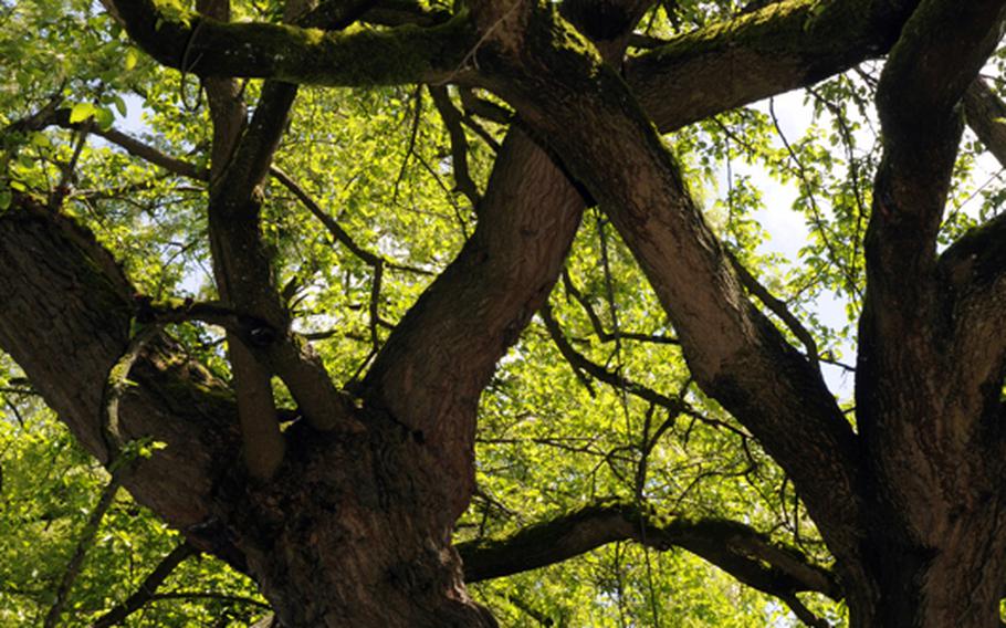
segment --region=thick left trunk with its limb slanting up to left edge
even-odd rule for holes
[[[101,391],[127,343],[128,283],[86,230],[19,203],[0,217],[0,347],[106,459]],[[255,578],[284,626],[495,625],[464,590],[458,496],[421,435],[363,409],[361,433],[302,421],[276,478],[256,482],[231,393],[176,349],[149,347],[123,399],[125,438],[166,444],[124,478],[137,501]]]

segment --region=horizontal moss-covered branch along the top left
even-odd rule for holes
[[[156,0],[115,0],[129,35],[169,67],[200,76],[317,85],[441,83],[461,75],[475,38],[463,18],[354,33],[259,22],[228,23]]]

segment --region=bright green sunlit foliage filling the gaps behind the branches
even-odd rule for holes
[[[271,2],[235,3],[239,15]],[[734,2],[663,2],[642,21],[668,38],[738,11]],[[198,80],[140,54],[96,3],[0,3],[0,127],[69,108],[69,125],[3,135],[0,210],[11,190],[52,198],[115,252],[143,294],[214,296],[205,207],[207,184],[126,154],[99,132],[117,128],[167,155],[209,166],[207,103]],[[73,52],[71,52],[73,51]],[[732,252],[805,321],[826,362],[849,363],[862,308],[862,238],[880,160],[872,109],[879,69],[867,64],[803,96],[795,134],[777,103],[737,108],[671,136],[706,217]],[[249,98],[261,83],[244,85]],[[461,108],[461,94],[451,88]],[[486,94],[480,97],[490,98]],[[485,189],[505,126],[463,127],[467,167]],[[83,126],[82,126],[83,125]],[[72,128],[71,128],[72,127]],[[356,247],[337,242],[289,186],[264,190],[262,237],[294,328],[316,338],[337,384],[352,386],[408,307],[461,249],[478,199],[458,182],[450,129],[426,88],[303,88],[275,166],[291,175]],[[977,176],[970,138],[955,170],[944,245],[998,211],[1000,172]],[[779,207],[783,192],[792,207]],[[775,195],[775,196],[774,196]],[[776,247],[766,217],[806,232]],[[827,306],[825,303],[837,305]],[[580,357],[620,384],[572,364],[543,314],[524,331],[484,391],[476,437],[476,492],[458,541],[501,537],[599,499],[647,504],[664,516],[743,521],[827,566],[830,556],[799,496],[747,430],[691,381],[673,329],[631,253],[599,211],[584,220],[551,316]],[[780,328],[783,325],[779,325]],[[787,331],[787,334],[789,332]],[[198,323],[169,335],[227,378],[221,333]],[[826,366],[836,393],[841,366]],[[610,379],[610,378],[609,378]],[[291,404],[276,383],[279,398]],[[680,397],[677,411],[652,400]],[[648,397],[649,395],[649,397]],[[75,444],[10,362],[0,363],[0,624],[40,621],[107,474]],[[850,412],[850,420],[855,416]],[[664,427],[659,441],[647,439]],[[178,543],[177,533],[120,493],[72,590],[65,625],[90,621],[134,593]],[[210,593],[148,604],[128,625],[248,625],[261,616],[254,585],[223,563],[186,561],[160,593]],[[783,626],[779,600],[744,587],[681,550],[615,543],[584,556],[473,587],[509,626]],[[229,597],[228,597],[229,596]],[[818,615],[840,604],[806,596]]]

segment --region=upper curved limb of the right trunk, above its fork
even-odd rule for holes
[[[1004,6],[923,1],[884,65],[877,87],[884,154],[866,239],[873,312],[918,318],[931,287],[962,130],[953,108],[998,41]]]

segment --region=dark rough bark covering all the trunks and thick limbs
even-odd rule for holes
[[[470,12],[447,21],[423,13],[428,29],[343,35],[167,19],[150,1],[116,2],[140,45],[219,82],[217,95],[233,92],[220,74],[459,82],[491,87],[521,114],[474,236],[391,334],[350,404],[287,333],[258,252],[255,189],[289,106],[283,87],[270,83],[275,100],[263,101],[247,130],[224,132],[243,115],[218,107],[227,115],[217,121],[210,181],[221,294],[279,337],[262,345],[231,329],[245,352],[235,366],[254,369],[245,374],[251,388],[239,381],[237,402],[167,341],[149,346],[132,374],[138,385],[122,400],[122,431],[167,448],[124,483],[195,546],[252,574],[287,626],[493,625],[464,592],[451,527],[472,491],[478,396],[558,275],[584,207],[577,186],[632,250],[696,381],[796,483],[838,559],[839,580],[768,552],[750,530],[706,527],[695,536],[698,528],[663,526],[647,538],[691,544],[776,595],[827,587],[849,599],[857,626],[997,622],[1006,576],[1006,221],[991,221],[942,257],[935,233],[960,137],[954,107],[998,36],[1003,2],[794,0],[623,63],[625,24],[646,4],[567,0],[560,15],[533,2],[473,0]],[[612,15],[621,30],[610,30]],[[878,95],[886,154],[867,241],[856,433],[816,364],[748,302],[658,129],[807,84],[895,41]],[[977,105],[991,106],[987,98],[968,106]],[[0,217],[0,346],[107,460],[102,389],[129,341],[130,286],[87,232],[28,197],[13,205]],[[52,322],[50,332],[36,333],[40,320]],[[268,388],[270,373],[310,419],[283,433],[273,429],[271,401],[254,394]],[[264,415],[268,438],[240,435],[237,419],[252,412]],[[242,442],[265,442],[264,461],[250,465],[263,481],[235,464]],[[617,537],[646,542],[640,523],[618,509],[566,517],[546,531],[562,534],[544,535],[557,545],[538,544],[538,563]],[[542,532],[512,541],[526,548]],[[482,550],[483,567],[506,571],[499,554]]]

